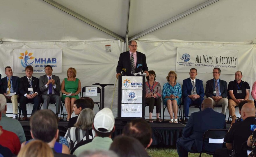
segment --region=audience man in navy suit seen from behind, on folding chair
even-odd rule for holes
[[[182,131],[182,136],[176,141],[179,157],[188,156],[188,153],[202,151],[203,136],[209,129],[225,129],[226,117],[213,110],[213,102],[206,98],[202,103],[202,112],[191,114],[188,123]],[[214,152],[216,148],[211,144],[204,145],[205,150]]]

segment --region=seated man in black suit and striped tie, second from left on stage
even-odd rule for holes
[[[35,113],[35,111],[38,109],[41,99],[38,95],[40,93],[39,88],[39,79],[36,77],[33,77],[33,67],[32,66],[26,66],[26,76],[20,78],[20,84],[19,84],[19,93],[20,93],[20,101],[19,105],[23,114],[23,118],[21,121],[28,120],[27,117],[27,102],[34,103],[32,114]]]

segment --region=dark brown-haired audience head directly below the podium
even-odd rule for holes
[[[152,143],[151,127],[142,118],[131,120],[131,122],[124,127],[123,135],[136,138],[145,148],[148,148]]]

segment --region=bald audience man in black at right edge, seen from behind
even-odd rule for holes
[[[241,151],[241,146],[248,137],[253,133],[250,126],[256,124],[255,106],[253,103],[246,103],[241,109],[241,118],[243,121],[233,123],[232,127],[226,134],[224,142],[227,148],[217,149],[216,156],[229,156],[231,151],[235,149],[236,157],[247,156],[247,151]],[[233,148],[234,145],[234,148]]]

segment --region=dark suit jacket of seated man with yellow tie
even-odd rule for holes
[[[1,94],[3,93],[6,93],[6,90],[7,90],[7,77],[4,77],[1,79],[2,81],[2,85],[0,87],[0,91],[1,91]],[[12,76],[12,87],[13,87],[13,92],[16,94],[19,94],[19,77],[18,76]]]

